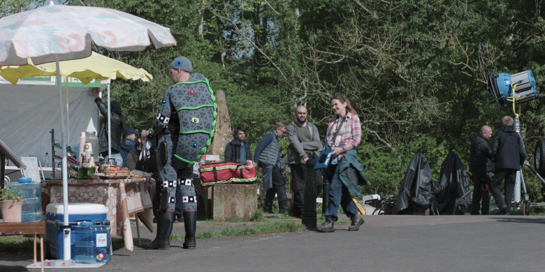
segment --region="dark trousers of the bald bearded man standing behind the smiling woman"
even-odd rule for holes
[[[303,213],[303,199],[305,198],[305,166],[304,165],[289,165],[291,169],[291,190],[293,191],[293,213],[300,217]],[[316,171],[316,195],[320,195],[323,186],[321,169]]]

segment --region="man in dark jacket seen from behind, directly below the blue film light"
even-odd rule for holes
[[[495,173],[492,179],[491,192],[495,202],[500,208],[500,214],[509,214],[511,211],[511,199],[514,195],[516,172],[521,169],[526,158],[524,143],[521,135],[513,128],[511,116],[502,117],[502,128],[497,131],[492,142],[492,156],[495,158]],[[505,179],[502,199],[500,187]]]

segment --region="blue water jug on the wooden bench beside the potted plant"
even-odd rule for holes
[[[22,176],[17,179],[17,182],[11,183],[10,188],[13,190],[21,188],[23,193],[24,202],[21,211],[21,221],[31,222],[41,220],[42,191],[40,183],[32,181],[31,178]]]

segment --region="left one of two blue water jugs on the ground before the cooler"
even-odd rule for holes
[[[96,264],[96,229],[93,222],[80,222],[73,227],[75,232],[75,257],[80,264]]]

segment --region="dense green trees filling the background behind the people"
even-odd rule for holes
[[[29,1],[2,2],[0,15]],[[453,151],[467,165],[470,140],[483,125],[514,116],[486,87],[488,73],[532,70],[538,91],[545,71],[543,1],[425,0],[114,0],[68,1],[106,6],[170,27],[177,47],[102,52],[152,73],[152,82],[116,82],[129,126],[152,123],[166,88],[167,64],[187,56],[215,90],[226,93],[231,123],[259,142],[276,121],[306,105],[322,138],[333,116],[330,97],[344,93],[362,121],[358,158],[371,186],[396,195],[410,158],[423,153],[439,178]],[[7,8],[11,7],[11,8]],[[517,109],[533,160],[545,113],[533,100]],[[286,146],[286,139],[283,139]],[[539,182],[526,176],[532,201]]]

